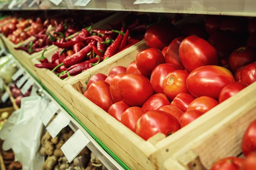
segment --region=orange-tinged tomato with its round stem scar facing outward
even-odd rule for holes
[[[164,94],[172,101],[179,93],[189,93],[186,87],[186,78],[189,73],[184,70],[175,70],[164,78]]]

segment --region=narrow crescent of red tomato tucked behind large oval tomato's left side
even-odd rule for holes
[[[122,100],[122,97],[118,91],[118,82],[124,75],[126,75],[126,73],[115,74],[115,76],[112,78],[110,82],[110,94],[112,96],[114,103]]]

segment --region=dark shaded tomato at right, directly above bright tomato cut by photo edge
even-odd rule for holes
[[[235,73],[239,67],[254,61],[256,61],[256,49],[252,46],[240,46],[229,56],[229,70]]]

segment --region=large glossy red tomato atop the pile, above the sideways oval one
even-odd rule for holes
[[[184,68],[189,73],[200,66],[220,64],[216,49],[209,42],[195,35],[182,40],[179,54]]]

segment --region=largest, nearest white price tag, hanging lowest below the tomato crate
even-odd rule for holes
[[[76,132],[68,139],[61,150],[63,151],[68,162],[71,163],[73,159],[85,148],[85,146],[90,142],[88,137],[86,137],[83,132],[78,129]]]

